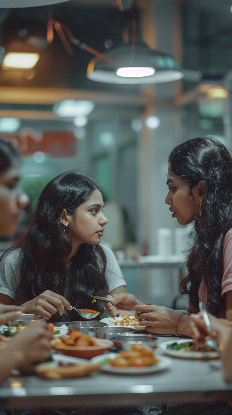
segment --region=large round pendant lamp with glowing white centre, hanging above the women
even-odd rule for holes
[[[135,49],[123,44],[104,53],[108,62],[94,58],[89,62],[87,78],[96,82],[149,84],[177,81],[184,77],[179,61],[171,55],[149,49],[136,42]]]

